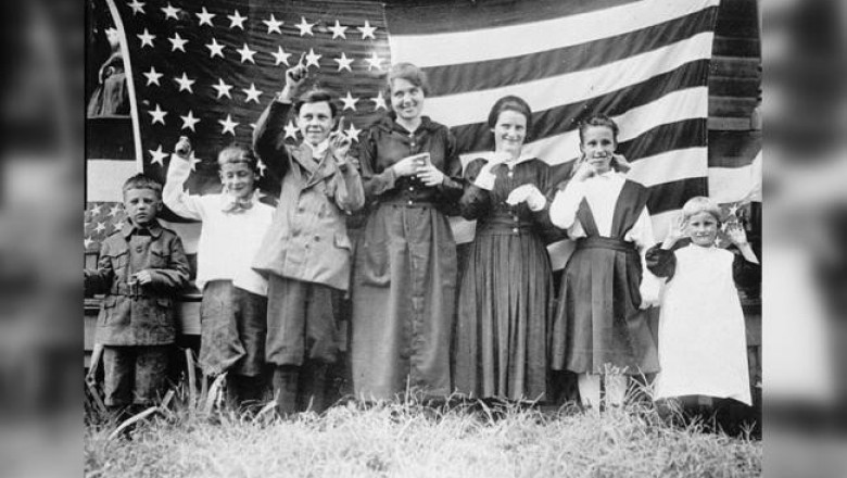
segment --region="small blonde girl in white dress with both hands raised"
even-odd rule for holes
[[[659,316],[661,372],[654,400],[706,395],[751,405],[744,314],[734,275],[758,267],[759,261],[737,224],[725,232],[739,254],[716,247],[720,216],[710,199],[692,198],[665,242],[647,251],[649,271],[667,277]],[[685,238],[691,243],[678,246]]]

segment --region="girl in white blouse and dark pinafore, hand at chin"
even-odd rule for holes
[[[658,372],[645,309],[658,301],[658,279],[644,267],[654,244],[647,189],[618,169],[618,126],[606,116],[580,125],[582,156],[551,205],[551,222],[576,250],[565,267],[553,326],[552,368],[578,374],[582,402],[620,405],[628,376]]]

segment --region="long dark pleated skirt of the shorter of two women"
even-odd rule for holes
[[[553,292],[547,250],[535,234],[477,236],[458,299],[456,391],[545,398]]]

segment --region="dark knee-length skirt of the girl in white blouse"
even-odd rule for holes
[[[553,326],[554,370],[658,372],[647,311],[639,309],[642,264],[631,243],[582,239],[568,261]]]

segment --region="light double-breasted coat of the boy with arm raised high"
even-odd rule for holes
[[[362,179],[352,162],[342,172],[329,151],[314,159],[307,144],[286,144],[290,110],[291,104],[271,102],[253,135],[256,154],[282,184],[253,268],[347,290],[353,246],[345,216],[365,204]]]

